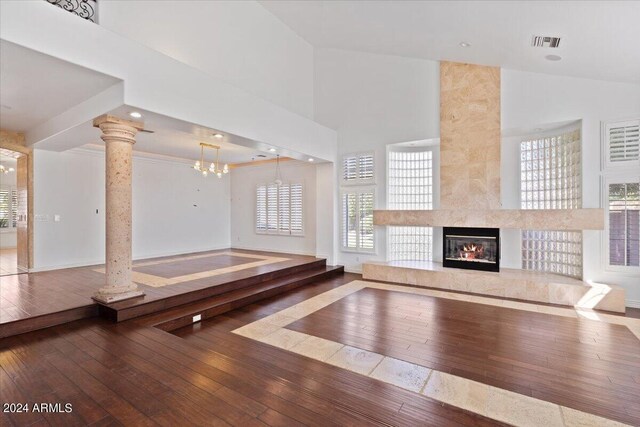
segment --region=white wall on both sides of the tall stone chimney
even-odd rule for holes
[[[439,137],[438,69],[435,61],[335,49],[316,51],[315,119],[338,131],[338,159],[350,152],[375,152],[377,208],[386,205],[386,145]],[[640,85],[502,70],[501,102],[502,129],[534,129],[582,120],[583,206],[601,207],[600,122],[638,117]],[[515,154],[513,145],[503,147],[505,208],[518,207],[514,185],[518,185],[519,158]],[[637,274],[605,271],[603,236],[603,232],[584,233],[585,280],[624,286],[629,303],[640,304]],[[503,264],[519,268],[519,232],[505,230],[504,238]],[[338,262],[358,271],[362,262],[384,260],[382,227],[376,230],[376,247],[373,256],[338,252]]]

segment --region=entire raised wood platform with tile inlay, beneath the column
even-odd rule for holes
[[[0,338],[99,314],[123,321],[203,299],[211,304],[203,316],[207,317],[216,310],[224,312],[223,307],[237,308],[242,301],[257,301],[343,271],[342,267],[327,267],[326,260],[320,258],[261,251],[224,250],[156,258],[134,262],[134,280],[151,283],[138,282],[144,297],[99,306],[91,296],[104,284],[101,268],[3,277]]]

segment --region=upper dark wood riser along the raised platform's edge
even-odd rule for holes
[[[297,265],[282,270],[270,271],[268,273],[260,274],[247,279],[239,279],[234,282],[225,283],[223,285],[213,286],[211,288],[201,289],[187,294],[176,295],[173,298],[167,298],[144,305],[139,305],[128,310],[116,311],[105,306],[100,306],[100,315],[116,322],[122,322],[124,320],[134,319],[136,317],[144,316],[152,312],[167,310],[179,305],[189,304],[191,302],[195,302],[204,298],[220,295],[232,290],[243,289],[249,286],[254,286],[256,284],[267,282],[273,279],[278,279],[302,271],[324,267],[326,266],[326,264],[327,261],[325,259],[320,259],[312,263]]]

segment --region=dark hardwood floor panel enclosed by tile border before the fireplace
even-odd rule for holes
[[[640,425],[626,326],[365,288],[286,328]]]

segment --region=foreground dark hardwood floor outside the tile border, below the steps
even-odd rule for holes
[[[2,339],[2,402],[73,405],[3,413],[2,425],[496,425],[230,332],[357,278],[304,286],[177,335],[94,318]]]

